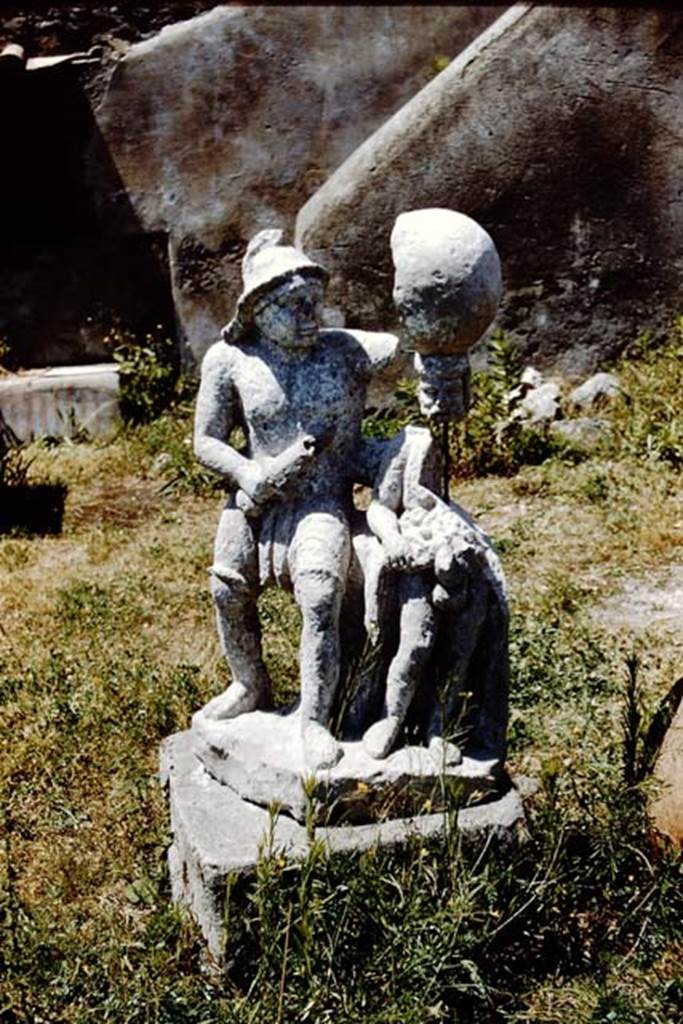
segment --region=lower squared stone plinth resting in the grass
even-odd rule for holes
[[[173,899],[189,907],[210,952],[220,961],[228,879],[253,873],[270,814],[208,774],[195,755],[189,731],[169,736],[162,743],[161,775],[168,785],[173,830],[168,854]],[[524,781],[513,782],[501,797],[460,810],[461,834],[471,841],[513,841],[524,820]],[[324,839],[332,852],[344,852],[397,845],[416,835],[435,836],[443,825],[443,814],[423,814],[374,824],[318,827],[315,837]],[[305,856],[307,848],[304,825],[279,815],[273,851],[296,861]]]

